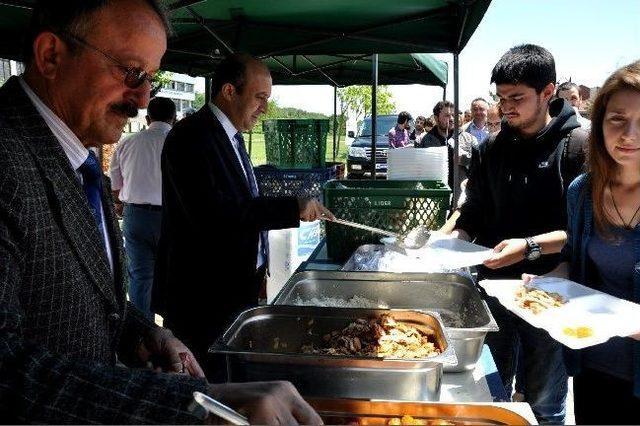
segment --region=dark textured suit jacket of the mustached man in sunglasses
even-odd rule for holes
[[[0,418],[3,423],[198,421],[203,381],[116,366],[154,325],[126,302],[74,170],[12,77],[0,88]]]

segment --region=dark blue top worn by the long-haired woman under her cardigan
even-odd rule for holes
[[[640,229],[615,229],[613,240],[595,232],[587,244],[587,255],[596,268],[594,287],[620,299],[633,299],[634,245],[640,243]],[[582,354],[586,367],[633,380],[633,340],[613,337],[605,343],[586,348]]]

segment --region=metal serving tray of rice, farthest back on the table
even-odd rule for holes
[[[498,330],[471,276],[455,273],[298,272],[273,304],[303,305],[327,298],[347,301],[354,296],[389,308],[439,313],[458,358],[457,365],[445,365],[445,372],[474,369],[487,333]]]

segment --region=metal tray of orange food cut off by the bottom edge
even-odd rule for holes
[[[429,424],[528,425],[524,417],[502,407],[473,404],[433,404],[358,399],[308,399],[326,424],[388,424],[408,415]],[[440,422],[438,422],[440,421]],[[449,422],[449,423],[444,423]]]

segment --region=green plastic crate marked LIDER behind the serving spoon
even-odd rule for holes
[[[442,227],[450,208],[451,190],[440,181],[331,180],[324,201],[340,219],[397,233],[418,225]],[[327,255],[347,260],[363,244],[379,244],[381,235],[326,222]]]

